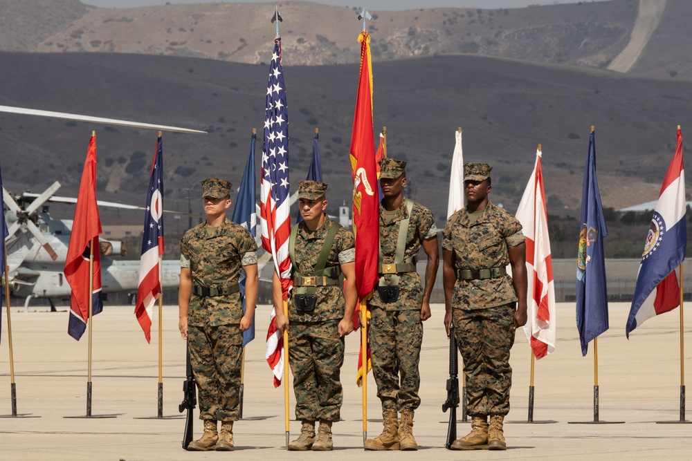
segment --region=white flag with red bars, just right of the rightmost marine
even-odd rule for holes
[[[534,173],[531,174],[516,214],[526,237],[529,312],[524,332],[536,359],[555,350],[555,288],[540,158],[539,146]]]

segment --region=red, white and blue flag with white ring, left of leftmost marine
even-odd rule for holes
[[[144,215],[142,258],[139,263],[137,306],[134,310],[147,343],[152,341],[152,311],[161,296],[161,255],[163,255],[163,141],[156,141],[152,176]]]

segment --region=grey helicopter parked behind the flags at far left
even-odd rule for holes
[[[24,309],[32,299],[44,298],[55,310],[54,299],[70,297],[71,289],[63,274],[70,242],[72,220],[55,219],[48,213],[47,202],[76,203],[75,198],[55,196],[60,182],[54,182],[42,194],[10,194],[3,187],[3,203],[8,225],[6,238],[7,270],[10,292],[23,297]],[[98,201],[99,206],[144,209]],[[99,238],[101,284],[103,293],[136,292],[139,283],[139,260],[119,259],[125,256],[120,241]],[[179,261],[162,261],[162,288],[177,288]]]

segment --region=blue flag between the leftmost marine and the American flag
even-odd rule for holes
[[[238,198],[235,200],[233,218],[231,218],[234,223],[242,225],[248,229],[248,231],[253,234],[253,237],[257,236],[257,203],[255,201],[255,140],[257,140],[257,135],[253,133],[248,163],[245,165],[245,173],[243,173],[243,180],[240,182],[240,190],[238,191]],[[245,312],[245,271],[241,272],[239,283],[240,294],[243,298],[243,312]],[[245,347],[246,344],[253,339],[255,339],[254,315],[251,327],[243,332],[243,347]]]

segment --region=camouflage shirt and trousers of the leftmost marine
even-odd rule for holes
[[[224,183],[224,189],[230,189],[230,182]],[[206,186],[205,196],[214,196],[207,193]],[[242,266],[257,264],[257,244],[247,229],[226,218],[218,227],[207,227],[206,223],[192,227],[185,232],[180,248],[181,267],[192,272],[188,341],[199,390],[199,418],[235,421],[243,342],[240,293],[203,297],[194,293],[194,286],[237,285]]]

